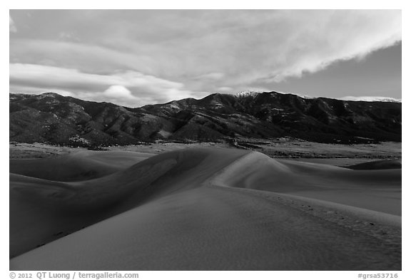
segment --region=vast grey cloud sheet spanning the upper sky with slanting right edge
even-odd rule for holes
[[[10,41],[11,63],[78,69],[80,80],[86,77],[87,85],[70,81],[69,90],[73,92],[91,90],[89,80],[100,81],[103,76],[111,83],[93,82],[92,90],[98,88],[103,92],[111,85],[123,85],[132,95],[146,98],[147,93],[140,94],[137,90],[143,88],[143,92],[151,92],[153,96],[165,94],[164,98],[156,98],[160,102],[190,92],[192,95],[215,92],[218,88],[232,88],[234,92],[275,89],[276,83],[322,71],[339,61],[367,58],[373,51],[402,39],[400,10],[32,11],[31,14],[27,19],[31,29],[27,29],[26,36],[21,34],[22,29],[21,36]],[[19,24],[21,20],[19,17]],[[76,42],[59,41],[62,31],[76,34]],[[41,36],[32,36],[34,33]],[[143,78],[139,78],[141,75]],[[126,82],[128,79],[131,85]],[[146,84],[133,84],[140,79]],[[56,77],[54,80],[67,82]],[[155,90],[158,93],[153,93]]]

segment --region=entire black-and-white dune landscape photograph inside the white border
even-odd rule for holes
[[[401,279],[401,9],[10,9],[9,22],[14,275]]]

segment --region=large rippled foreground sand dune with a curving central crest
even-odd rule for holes
[[[401,269],[401,244],[392,242],[400,231],[401,170],[204,148],[129,167],[138,155],[126,155],[127,164],[103,175],[116,156],[100,157],[93,165],[99,177],[90,180],[70,182],[67,172],[66,182],[10,175],[11,269]],[[342,226],[322,217],[323,209],[373,221],[390,238]]]

